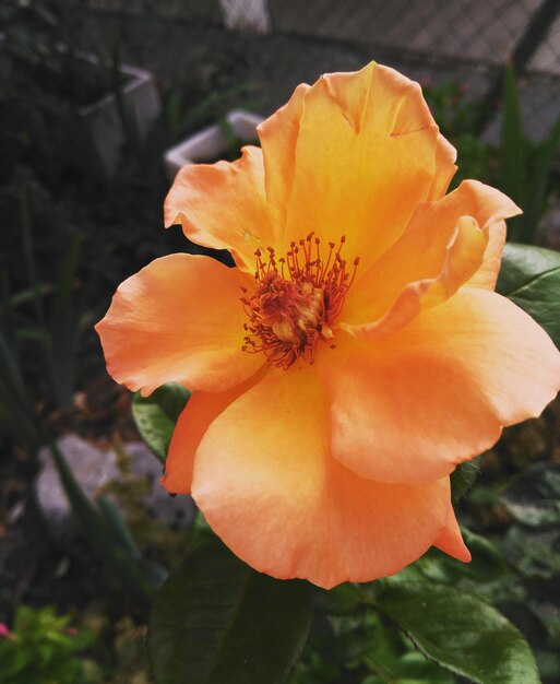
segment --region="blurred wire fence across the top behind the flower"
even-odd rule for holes
[[[489,101],[499,97],[502,70],[512,62],[529,137],[543,137],[560,115],[559,0],[90,0],[90,7],[136,16],[156,11],[187,32],[188,51],[198,40],[206,57],[235,52],[245,78],[265,84],[271,109],[301,81],[376,59],[419,81],[458,81]],[[485,125],[496,135],[496,122]]]

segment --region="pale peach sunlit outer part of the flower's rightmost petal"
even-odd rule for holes
[[[484,390],[507,426],[540,415],[560,388],[560,353],[548,334],[510,299],[462,288],[441,307],[422,312],[403,340],[436,351]]]

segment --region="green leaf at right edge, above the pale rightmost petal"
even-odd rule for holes
[[[497,292],[514,302],[560,346],[560,253],[505,245]]]

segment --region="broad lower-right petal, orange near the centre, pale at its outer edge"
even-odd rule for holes
[[[338,332],[315,354],[333,455],[365,477],[430,482],[537,416],[560,386],[560,354],[509,299],[462,288],[398,332]]]

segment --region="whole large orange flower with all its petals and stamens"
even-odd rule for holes
[[[157,259],[97,326],[117,381],[193,390],[163,483],[275,577],[371,580],[431,545],[468,561],[449,474],[560,386],[550,339],[493,292],[519,210],[474,180],[444,196],[454,149],[374,63],[298,86],[259,137],[165,202],[237,268]]]

